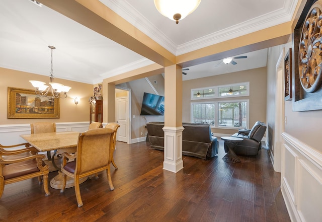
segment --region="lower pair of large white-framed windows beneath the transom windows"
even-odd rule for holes
[[[248,127],[249,100],[191,103],[191,122],[214,127]]]

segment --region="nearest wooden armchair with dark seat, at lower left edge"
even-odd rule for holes
[[[26,153],[25,157],[19,158],[24,153]],[[6,184],[34,177],[38,177],[39,183],[43,183],[46,196],[48,196],[50,194],[48,190],[49,168],[43,162],[44,158],[45,155],[37,154],[37,150],[32,146],[17,151],[2,152],[0,154],[0,198]]]

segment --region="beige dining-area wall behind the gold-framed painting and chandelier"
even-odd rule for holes
[[[29,72],[0,68],[0,124],[24,124],[31,122],[82,122],[90,120],[89,98],[93,96],[93,85],[78,83],[55,78],[55,81],[70,86],[68,97],[60,99],[60,118],[53,119],[8,119],[8,87],[33,89],[29,80],[49,82],[48,76],[36,75]],[[80,98],[79,104],[74,103],[74,98]]]

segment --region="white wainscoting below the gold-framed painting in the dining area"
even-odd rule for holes
[[[57,132],[78,131],[84,132],[89,128],[89,122],[57,122]],[[0,125],[0,143],[13,145],[26,142],[20,137],[22,134],[30,134],[30,124]]]

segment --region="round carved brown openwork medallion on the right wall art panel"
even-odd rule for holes
[[[299,78],[302,88],[313,93],[322,80],[322,1],[314,3],[309,10],[299,44]]]

